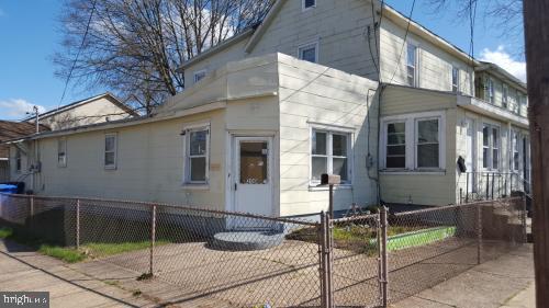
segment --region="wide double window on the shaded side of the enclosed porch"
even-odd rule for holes
[[[380,164],[388,171],[440,171],[445,168],[445,113],[426,112],[382,119]]]

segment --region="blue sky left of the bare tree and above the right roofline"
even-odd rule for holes
[[[59,103],[86,99],[104,92],[105,89],[82,90],[69,83],[60,102],[65,80],[54,76],[52,56],[60,50],[61,34],[59,13],[64,0],[0,0],[0,119],[21,119],[34,105],[40,111],[56,109]],[[298,0],[292,0],[298,1]],[[344,0],[340,0],[344,1]],[[412,0],[386,0],[404,13],[410,14]],[[412,18],[468,52],[470,28],[468,20],[451,13],[433,13],[428,0],[416,0]],[[492,20],[478,13],[474,35],[474,56],[493,61],[526,79],[526,65],[517,57],[522,42],[502,36]]]

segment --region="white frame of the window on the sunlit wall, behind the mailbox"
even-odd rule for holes
[[[315,132],[326,133],[326,155],[313,155],[313,134]],[[334,158],[343,158],[334,156],[333,135],[347,136],[347,180],[341,180],[341,185],[352,185],[352,169],[354,169],[354,136],[355,130],[345,127],[337,127],[332,125],[312,125],[309,132],[310,147],[309,147],[309,183],[310,186],[316,186],[321,183],[320,180],[313,180],[313,157],[326,157],[326,172],[330,174],[334,171]]]

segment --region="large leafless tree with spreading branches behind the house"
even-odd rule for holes
[[[270,0],[67,0],[56,75],[149,113],[184,88],[176,69],[262,20]],[[91,16],[91,20],[90,20]],[[86,37],[82,44],[82,39]],[[78,57],[77,57],[78,55]],[[77,59],[75,61],[75,59]]]

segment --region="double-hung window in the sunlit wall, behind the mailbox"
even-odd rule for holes
[[[341,176],[350,183],[350,134],[313,129],[311,149],[311,181],[320,182],[323,173]]]

